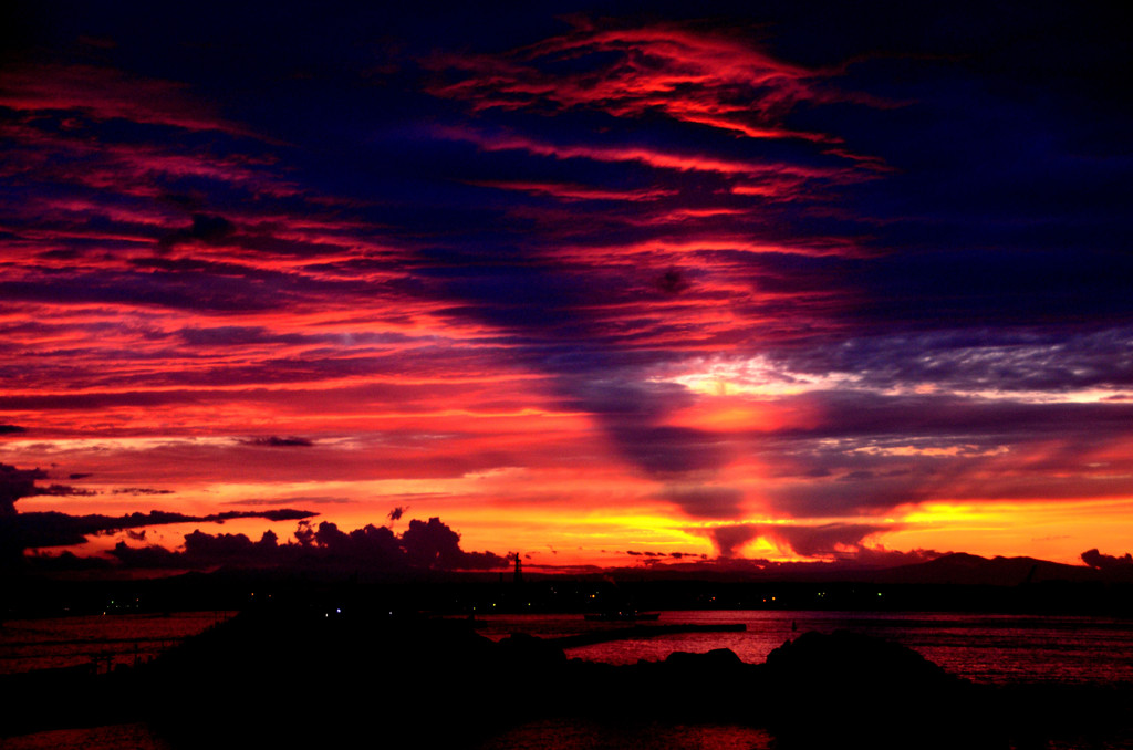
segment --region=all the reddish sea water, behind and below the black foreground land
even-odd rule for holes
[[[201,632],[230,613],[167,616],[119,615],[12,621],[0,628],[0,673],[90,664],[95,658],[131,663]],[[949,672],[986,683],[1131,683],[1133,622],[1070,617],[956,613],[713,611],[662,612],[658,624],[743,623],[744,632],[684,633],[616,640],[568,649],[571,658],[612,664],[663,659],[673,651],[730,648],[758,664],[783,641],[808,630],[850,629],[898,641]],[[572,636],[624,628],[587,622],[582,615],[534,614],[479,617],[480,633],[499,640],[513,632]],[[104,667],[101,667],[104,668]],[[6,750],[169,750],[140,724],[39,732],[0,741]],[[528,722],[477,745],[476,750],[770,750],[765,730],[734,725],[661,722],[596,722],[544,718]],[[1045,750],[1073,750],[1076,741],[1050,742]],[[1133,747],[1133,738],[1093,744]]]

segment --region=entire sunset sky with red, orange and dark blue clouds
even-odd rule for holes
[[[1109,5],[167,5],[0,19],[28,554],[1127,551]]]

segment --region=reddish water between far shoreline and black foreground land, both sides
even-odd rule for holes
[[[15,620],[0,628],[0,674],[97,662],[100,670],[156,656],[227,619],[228,612],[93,615]],[[1133,684],[1133,622],[1113,617],[929,612],[673,611],[657,624],[743,623],[746,632],[675,633],[570,648],[566,655],[608,664],[662,660],[673,651],[730,648],[759,664],[783,641],[808,630],[850,629],[903,644],[948,672],[976,682]],[[588,622],[580,614],[488,615],[478,631],[553,638],[627,623]],[[646,623],[646,627],[649,623]],[[792,630],[792,625],[795,630]]]

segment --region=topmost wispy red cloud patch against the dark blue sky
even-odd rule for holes
[[[588,65],[589,60],[599,60]],[[568,62],[569,73],[556,66]],[[503,59],[448,56],[432,61],[462,80],[433,88],[477,110],[588,108],[615,117],[664,112],[749,138],[836,142],[785,128],[782,114],[817,96],[811,82],[827,75],[790,65],[740,40],[678,26],[576,28]]]

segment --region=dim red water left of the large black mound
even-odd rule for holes
[[[0,674],[153,658],[189,636],[225,620],[231,612],[178,612],[168,615],[88,615],[11,620],[0,627]]]

